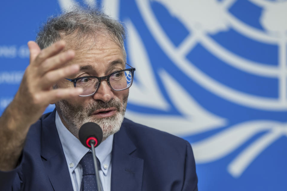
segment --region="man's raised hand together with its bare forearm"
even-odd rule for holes
[[[0,117],[0,170],[11,170],[16,166],[30,125],[50,103],[76,97],[83,91],[74,87],[53,89],[57,81],[79,71],[78,65],[67,65],[75,53],[63,51],[64,41],[43,50],[29,41],[28,47],[30,64],[13,101]]]

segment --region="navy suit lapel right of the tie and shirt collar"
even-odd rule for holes
[[[140,191],[143,179],[144,160],[134,155],[135,145],[122,125],[115,133],[112,150],[111,191]]]

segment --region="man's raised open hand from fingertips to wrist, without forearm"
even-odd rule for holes
[[[78,96],[82,90],[74,87],[52,88],[59,79],[79,70],[78,65],[65,66],[68,61],[74,58],[74,51],[62,51],[65,48],[64,41],[58,41],[44,50],[40,50],[35,42],[29,41],[28,47],[30,64],[24,73],[13,101],[18,103],[22,115],[29,116],[27,122],[33,124],[42,115],[49,103]]]

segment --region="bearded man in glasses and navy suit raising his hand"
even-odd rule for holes
[[[0,118],[0,190],[96,190],[78,139],[88,121],[103,130],[96,153],[104,191],[197,190],[187,141],[124,119],[135,71],[124,37],[104,13],[75,9],[28,42],[30,64]],[[50,103],[56,110],[41,117]]]

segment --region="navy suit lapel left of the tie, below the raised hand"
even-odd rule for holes
[[[56,129],[54,110],[42,121],[41,156],[55,191],[73,190],[68,165]]]

